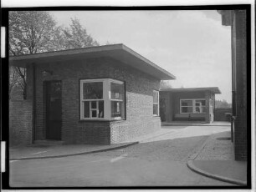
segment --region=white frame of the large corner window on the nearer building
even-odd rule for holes
[[[83,95],[83,84],[84,83],[95,83],[95,82],[102,82],[103,83],[103,97],[102,99],[84,99]],[[119,83],[123,84],[124,82],[118,81],[112,78],[94,78],[94,79],[80,79],[79,80],[79,86],[80,86],[80,93],[79,93],[79,99],[80,99],[80,120],[111,120],[111,119],[121,119],[120,117],[111,118],[111,100],[120,100],[125,103],[125,90],[124,90],[124,99],[111,99],[111,87],[110,83]],[[91,101],[104,101],[104,117],[98,118],[99,114],[99,102],[96,103],[96,109],[91,109]],[[84,118],[84,102],[90,101],[90,117]],[[92,111],[97,111],[97,117],[92,117]]]

